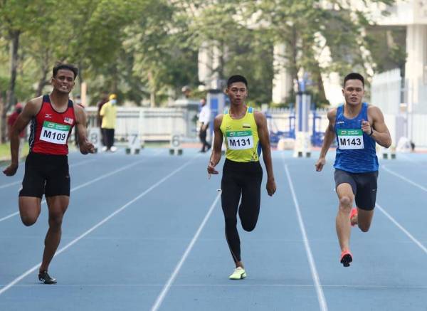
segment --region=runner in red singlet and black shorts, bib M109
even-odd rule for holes
[[[16,120],[11,132],[11,164],[3,172],[13,176],[18,169],[19,132],[31,122],[28,139],[30,153],[25,162],[25,174],[19,191],[19,213],[24,225],[36,223],[41,211],[41,198],[46,196],[49,210],[49,230],[46,234],[43,260],[38,279],[55,284],[48,275],[48,266],[58,248],[61,223],[70,201],[68,172],[68,137],[73,126],[78,131],[80,152],[95,152],[86,136],[86,116],[83,108],[73,104],[69,94],[73,90],[78,68],[68,64],[53,67],[50,95],[30,100]]]

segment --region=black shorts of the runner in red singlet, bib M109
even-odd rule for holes
[[[70,196],[70,174],[66,155],[30,152],[19,196]]]

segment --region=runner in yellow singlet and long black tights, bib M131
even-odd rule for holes
[[[232,280],[246,278],[241,260],[240,238],[237,231],[237,212],[244,230],[253,231],[260,212],[260,191],[263,169],[260,152],[263,152],[267,170],[267,193],[276,190],[267,120],[261,112],[246,106],[248,81],[242,75],[228,78],[226,93],[231,107],[214,120],[214,147],[209,159],[208,173],[218,174],[215,167],[221,159],[221,146],[226,142],[226,161],[221,179],[221,205],[226,222],[226,240],[236,269]],[[239,206],[239,201],[241,204]]]

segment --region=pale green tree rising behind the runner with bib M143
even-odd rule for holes
[[[260,0],[247,11],[258,16],[256,22],[267,29],[273,43],[285,43],[286,69],[294,81],[302,71],[308,73],[312,93],[320,102],[326,100],[322,73],[342,74],[354,69],[366,73],[365,64],[372,63],[363,51],[371,48],[365,32],[371,21],[348,1]],[[330,48],[332,64],[321,68],[318,56],[325,46]]]

